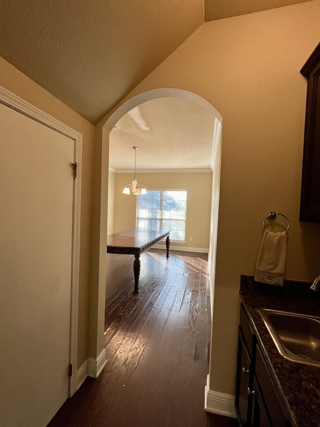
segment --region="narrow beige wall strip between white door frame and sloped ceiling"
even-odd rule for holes
[[[0,86],[82,134],[78,367],[87,357],[89,252],[94,126],[0,58]]]

